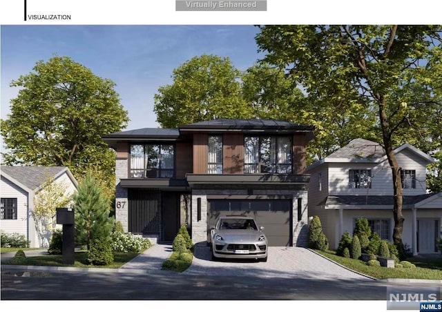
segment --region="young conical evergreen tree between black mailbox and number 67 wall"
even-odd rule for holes
[[[79,183],[73,201],[77,244],[86,244],[89,250],[95,238],[110,237],[114,224],[109,217],[110,202],[91,172]]]

